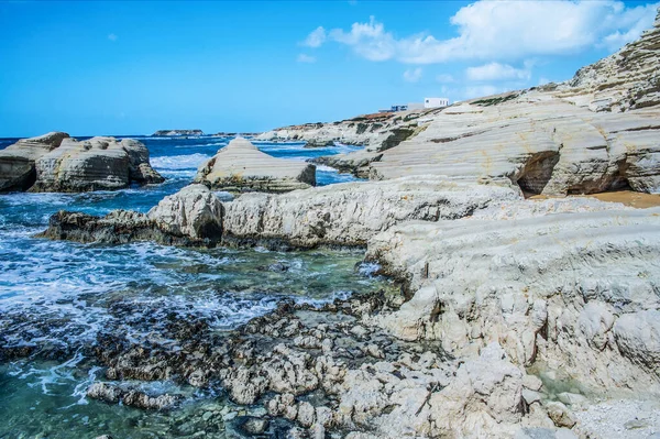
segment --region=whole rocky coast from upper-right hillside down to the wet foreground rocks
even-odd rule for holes
[[[639,42],[581,70],[579,80],[425,113],[415,128],[389,114],[369,119],[371,129],[353,119],[332,130],[309,124],[264,134],[319,144],[369,140],[372,151],[333,163],[371,182],[285,191],[249,179],[246,190],[264,193],[221,201],[208,186],[227,188],[222,178],[235,183],[234,164],[248,168],[240,157],[220,163],[221,151],[200,168],[202,184],[147,213],[53,216],[40,238],[358,246],[400,285],[321,307],[283,300],[228,332],[176,314],[157,322],[147,342],[109,327],[87,348],[105,372],[87,395],[167,410],[185,396],[150,394],[133,382],[224,392],[244,407],[202,416],[226,431],[235,427],[239,437],[657,435],[660,207],[571,195],[659,187],[656,77],[637,72],[658,64],[648,52],[659,39],[660,14]],[[613,65],[626,61],[625,77],[613,77]],[[382,122],[389,125],[373,128]],[[386,143],[392,135],[400,140]],[[234,142],[254,155],[249,142]],[[131,306],[148,305],[119,300],[112,312],[128,315]],[[30,353],[0,351],[4,359]],[[600,424],[603,410],[610,410],[610,431]]]

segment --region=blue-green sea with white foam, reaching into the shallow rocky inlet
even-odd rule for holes
[[[170,413],[86,398],[95,378],[105,381],[91,354],[99,337],[112,332],[133,343],[167,344],[173,343],[163,336],[167,318],[204,321],[222,333],[274,309],[283,298],[322,304],[388,285],[370,277],[369,267],[356,270],[362,254],[352,251],[84,245],[32,238],[59,209],[146,211],[189,184],[197,166],[228,142],[141,140],[165,184],[90,194],[0,195],[0,438],[191,437],[201,430],[207,437],[224,437],[221,388],[136,383],[148,394],[186,396]],[[290,160],[352,150],[258,146]],[[319,184],[346,179],[352,177],[329,169],[318,175]]]

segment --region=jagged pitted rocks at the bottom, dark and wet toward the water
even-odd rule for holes
[[[369,316],[396,310],[400,303],[400,296],[383,292],[322,308],[283,301],[238,330],[217,331],[199,316],[150,317],[135,312],[135,304],[118,300],[111,305],[114,323],[85,348],[94,352],[90,364],[103,366],[87,396],[169,410],[189,396],[154,393],[135,383],[174,382],[220,392],[229,408],[200,411],[199,421],[239,437],[351,431],[438,437],[465,433],[470,425],[515,431],[528,413],[524,383],[534,386],[534,380],[526,380],[497,343],[463,362],[437,343],[402,341],[369,323]],[[131,322],[135,315],[142,317]],[[125,334],[125,323],[152,330],[136,340]],[[540,402],[534,404],[544,413]]]

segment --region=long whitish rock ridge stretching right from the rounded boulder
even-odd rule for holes
[[[226,205],[226,240],[280,240],[294,246],[365,245],[375,233],[405,220],[469,216],[493,200],[521,196],[503,186],[435,176],[348,183],[284,195],[245,194]]]

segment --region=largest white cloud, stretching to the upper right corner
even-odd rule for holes
[[[579,53],[594,45],[616,47],[651,26],[658,4],[629,8],[615,0],[482,0],[461,8],[450,19],[459,35],[449,40],[437,40],[430,34],[396,39],[373,17],[369,23],[353,23],[350,31],[323,30],[322,35],[323,41],[348,45],[371,61],[517,61]]]

